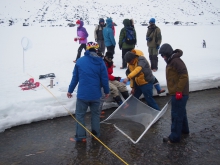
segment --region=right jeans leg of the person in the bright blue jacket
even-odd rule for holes
[[[92,134],[99,137],[100,136],[100,111],[99,111],[100,100],[90,101],[90,111],[91,111],[91,129]]]

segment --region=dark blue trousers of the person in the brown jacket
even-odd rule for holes
[[[169,139],[172,142],[179,142],[182,133],[189,133],[188,119],[186,114],[186,103],[188,95],[183,95],[181,100],[176,100],[176,96],[171,97],[171,134]]]

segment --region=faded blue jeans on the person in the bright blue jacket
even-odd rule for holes
[[[88,107],[90,107],[91,111],[91,129],[92,133],[99,137],[100,136],[100,112],[99,112],[100,99],[98,100],[81,100],[77,99],[76,101],[76,120],[80,122],[83,126],[85,126],[85,115]],[[86,138],[86,130],[81,127],[76,122],[76,138],[82,139]]]

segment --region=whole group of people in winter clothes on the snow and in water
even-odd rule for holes
[[[119,92],[126,100],[129,97],[126,88],[127,81],[130,81],[131,94],[138,98],[143,94],[147,104],[155,110],[160,110],[156,101],[153,98],[153,86],[158,88],[157,92],[162,93],[165,90],[161,89],[158,80],[152,72],[158,69],[158,54],[167,63],[166,80],[169,94],[171,95],[171,134],[163,138],[164,142],[175,143],[180,142],[181,134],[189,134],[186,103],[189,95],[189,78],[187,67],[180,58],[183,55],[182,50],[173,50],[170,44],[163,44],[161,31],[155,25],[155,19],[151,18],[146,35],[149,63],[144,57],[141,50],[135,49],[135,44],[124,42],[127,37],[127,29],[136,32],[132,25],[133,20],[124,19],[124,28],[120,31],[119,47],[122,49],[122,67],[126,68],[126,76],[123,82],[120,82],[121,77],[113,76],[113,58],[115,49],[114,28],[111,18],[99,20],[99,25],[95,28],[95,41],[87,42],[88,33],[83,28],[83,22],[79,23],[77,28],[78,37],[81,43],[77,59],[74,61],[72,80],[69,85],[67,97],[71,98],[72,93],[78,85],[77,100],[76,100],[76,119],[82,125],[85,125],[85,114],[90,108],[91,111],[91,132],[95,137],[100,136],[100,100],[108,98],[109,94],[118,103],[122,104]],[[80,30],[81,29],[81,30]],[[78,31],[79,30],[79,31]],[[137,41],[137,40],[136,40]],[[105,48],[107,52],[105,53]],[[85,49],[84,56],[81,57],[81,51]],[[80,58],[81,57],[81,58]],[[156,87],[157,86],[157,87]],[[104,95],[104,96],[103,96]],[[85,141],[86,130],[76,123],[76,141]]]

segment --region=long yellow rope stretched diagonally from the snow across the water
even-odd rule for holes
[[[30,77],[34,78],[33,76],[31,76],[30,74],[28,74]],[[41,84],[41,83],[40,83]],[[72,113],[61,104],[61,102],[57,99],[57,97],[47,88],[45,87],[43,84],[41,84],[44,89],[46,89],[47,92],[49,92],[53,98],[68,112],[68,114],[81,126],[83,127],[90,135],[92,135],[99,143],[101,143],[107,150],[109,150],[113,155],[115,155],[119,160],[121,160],[124,164],[128,165],[127,162],[125,162],[119,155],[117,155],[114,151],[112,151],[107,145],[105,145],[99,138],[97,138],[95,135],[92,134],[92,132],[90,132],[86,127],[84,127],[84,125],[82,125],[73,115]]]

